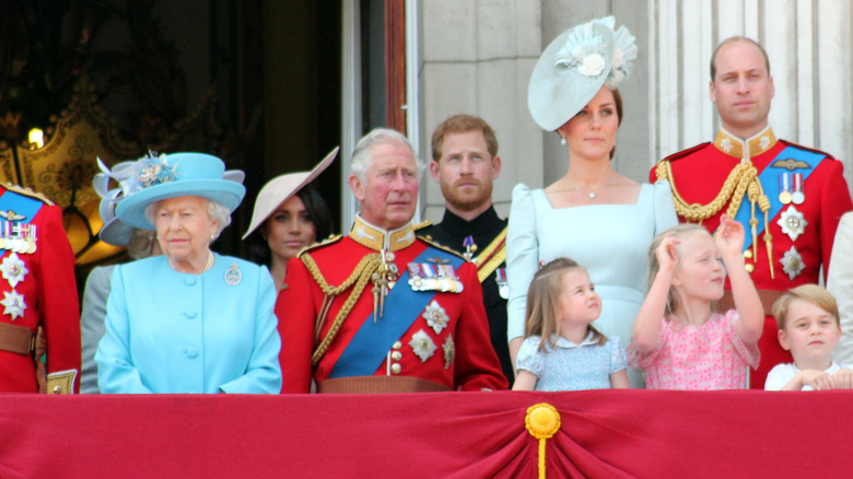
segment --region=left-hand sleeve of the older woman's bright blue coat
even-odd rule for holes
[[[106,331],[97,344],[97,386],[104,394],[145,394],[151,389],[142,384],[142,376],[130,358],[130,318],[127,311],[127,291],[116,266],[107,299]]]

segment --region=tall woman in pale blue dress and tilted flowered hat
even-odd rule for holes
[[[513,189],[507,234],[510,352],[524,336],[527,288],[540,264],[569,257],[585,267],[601,296],[596,328],[631,341],[645,297],[647,250],[658,233],[678,220],[669,185],[640,185],[617,173],[610,161],[622,119],[616,89],[636,58],[633,37],[614,19],[564,32],[542,52],[530,78],[534,120],[557,131],[569,151],[565,176],[545,189]],[[629,371],[634,387],[638,372]]]

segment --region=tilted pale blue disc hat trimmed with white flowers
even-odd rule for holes
[[[536,62],[527,89],[527,108],[544,130],[553,131],[577,114],[601,86],[628,78],[636,58],[634,37],[612,16],[577,25],[558,36]]]

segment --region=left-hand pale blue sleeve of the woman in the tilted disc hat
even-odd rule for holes
[[[506,233],[506,280],[510,287],[507,341],[524,336],[527,309],[527,288],[539,270],[539,238],[536,235],[536,209],[530,188],[518,184],[513,188],[510,229]]]

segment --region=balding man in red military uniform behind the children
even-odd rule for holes
[[[763,48],[745,37],[722,42],[711,59],[716,140],[664,159],[651,174],[670,183],[681,221],[701,222],[713,233],[727,213],[746,229],[746,268],[767,315],[761,362],[750,375],[757,389],[774,365],[792,362],[776,339],[773,302],[790,288],[818,282],[838,222],[853,208],[841,162],[775,138],[768,125],[773,94]]]

